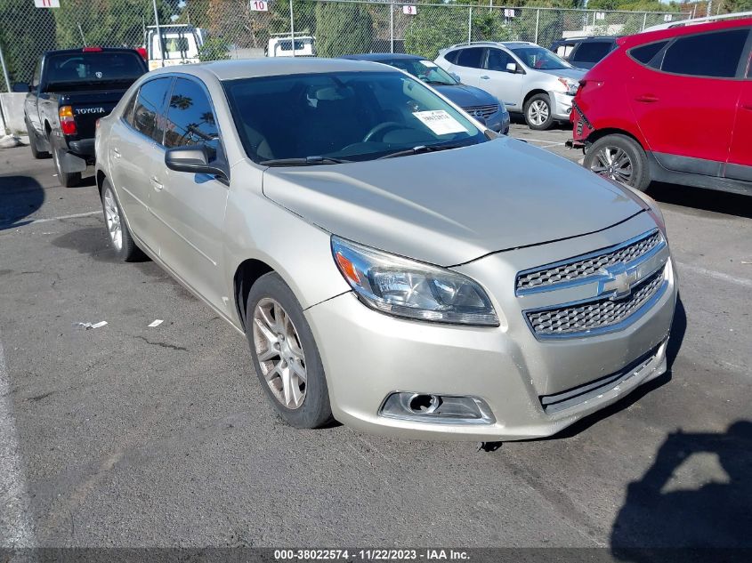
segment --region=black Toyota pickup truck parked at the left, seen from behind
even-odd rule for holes
[[[28,92],[24,121],[31,152],[36,158],[52,153],[63,186],[76,185],[86,166],[94,164],[97,120],[147,71],[133,49],[65,49],[45,52],[31,84],[13,86]]]

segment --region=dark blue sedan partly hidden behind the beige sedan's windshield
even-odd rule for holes
[[[462,84],[435,62],[417,55],[394,52],[373,52],[360,55],[345,55],[343,59],[373,60],[400,68],[431,85],[434,89],[456,103],[460,108],[497,133],[509,133],[509,112],[503,103],[485,90]]]

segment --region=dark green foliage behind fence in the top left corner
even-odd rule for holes
[[[42,52],[55,46],[52,10],[35,8],[28,0],[0,0],[0,46],[11,84],[30,82]]]

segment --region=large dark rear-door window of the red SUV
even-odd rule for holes
[[[680,75],[733,78],[748,29],[730,29],[679,37],[668,46],[660,69]]]

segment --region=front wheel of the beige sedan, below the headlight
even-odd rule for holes
[[[281,417],[295,428],[320,428],[331,422],[327,378],[311,327],[295,294],[277,273],[259,277],[251,287],[246,319],[256,375]]]

